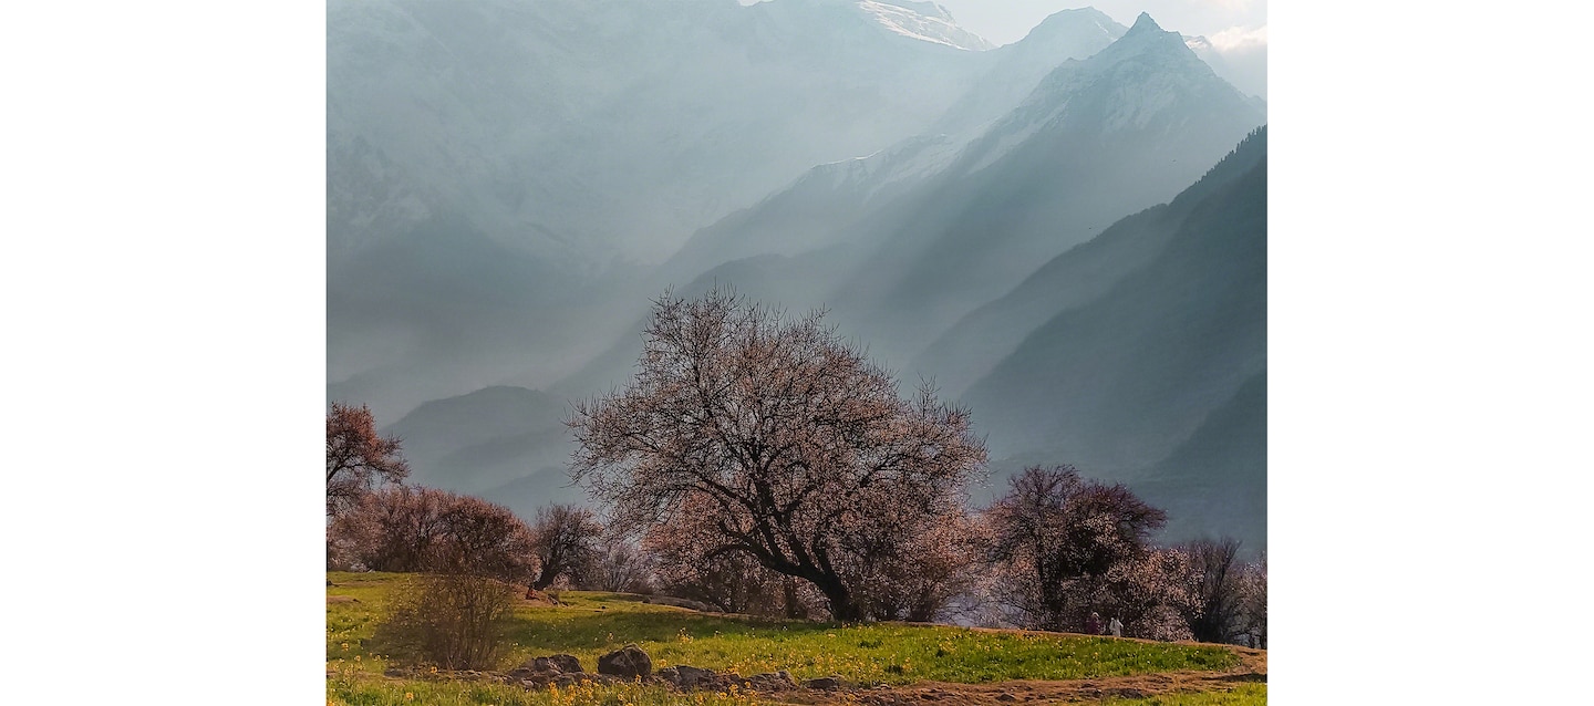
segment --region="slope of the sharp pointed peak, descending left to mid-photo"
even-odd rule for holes
[[[830,301],[910,359],[1041,263],[1172,199],[1261,123],[1143,14],[972,142]]]

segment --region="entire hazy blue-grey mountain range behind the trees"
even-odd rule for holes
[[[328,397],[419,483],[579,502],[567,400],[625,384],[652,298],[732,287],[937,381],[998,486],[1074,464],[1266,547],[1266,115],[1191,46],[1090,8],[991,48],[909,0],[333,2]]]

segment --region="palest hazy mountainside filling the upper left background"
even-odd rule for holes
[[[893,5],[328,3],[328,397],[547,387],[657,296],[641,263],[921,132],[990,59]]]

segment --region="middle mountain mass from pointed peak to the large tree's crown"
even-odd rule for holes
[[[783,282],[781,296],[768,301],[826,306],[843,335],[867,341],[905,378],[956,378],[963,373],[909,365],[960,317],[1011,292],[1041,263],[1189,186],[1259,123],[1261,113],[1178,33],[1143,16],[1106,49],[1065,62],[1023,105],[955,153],[947,148],[956,140],[928,137],[827,164],[700,231],[669,263],[671,279],[660,288],[679,284],[692,263],[810,249],[765,260],[756,273],[709,273],[748,293]],[[1041,320],[1055,312],[1044,309]],[[611,349],[609,368],[591,365],[559,389],[614,379],[620,363],[628,370],[639,330],[617,344],[630,355]],[[1028,330],[991,338],[1009,347],[988,355],[985,370]],[[971,379],[963,375],[960,387]]]

